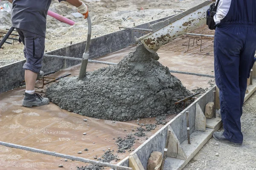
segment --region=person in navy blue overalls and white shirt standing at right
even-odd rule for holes
[[[241,146],[242,106],[256,51],[256,0],[220,0],[214,20],[214,70],[224,132],[213,137]]]

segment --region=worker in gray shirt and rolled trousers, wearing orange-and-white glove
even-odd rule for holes
[[[59,2],[62,0],[59,0]],[[88,16],[88,8],[81,0],[65,0]],[[43,77],[41,71],[46,35],[46,18],[52,0],[9,0],[12,3],[12,26],[16,28],[24,44],[26,91],[22,105],[26,107],[49,104],[48,98],[35,93],[37,78]]]

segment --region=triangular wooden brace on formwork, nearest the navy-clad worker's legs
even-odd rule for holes
[[[200,105],[196,103],[195,106],[195,130],[205,131],[206,129],[206,118]]]

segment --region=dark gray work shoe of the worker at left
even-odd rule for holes
[[[42,106],[42,105],[48,105],[49,99],[43,98],[39,94],[28,94],[25,93],[25,97],[22,100],[22,105],[25,107],[32,107],[32,106]]]

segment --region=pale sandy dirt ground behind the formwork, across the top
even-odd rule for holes
[[[84,1],[84,0],[83,0]],[[119,26],[132,27],[148,21],[175,14],[174,10],[189,9],[204,0],[87,0],[92,18],[92,37],[99,37],[119,30]],[[7,1],[0,2],[0,5]],[[11,5],[11,4],[10,4]],[[141,10],[141,7],[143,10]],[[52,1],[50,10],[76,22],[74,26],[47,17],[46,51],[86,40],[87,20],[75,18],[71,13],[76,7],[66,2]],[[11,27],[11,14],[0,12],[0,31]],[[123,20],[125,18],[127,21]],[[9,40],[10,41],[10,40]],[[23,58],[23,44],[3,46],[0,49],[0,66],[17,62]]]

